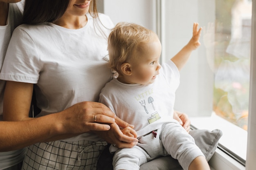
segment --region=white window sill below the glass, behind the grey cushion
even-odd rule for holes
[[[220,146],[231,150],[228,154],[217,148],[209,164],[215,170],[245,170],[247,131],[222,119],[215,113],[210,117],[190,117],[191,125],[197,129],[220,129],[223,132]],[[234,155],[234,157],[233,157]],[[236,158],[238,157],[238,159]],[[241,163],[239,163],[239,161]]]

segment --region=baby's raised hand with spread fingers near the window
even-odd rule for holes
[[[199,42],[201,31],[202,31],[202,27],[198,29],[198,23],[194,23],[193,36],[189,41],[189,43],[187,44],[187,47],[189,47],[191,50],[195,50],[201,45],[201,43]]]

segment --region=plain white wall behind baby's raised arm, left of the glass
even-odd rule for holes
[[[165,60],[169,60],[191,39],[193,22],[204,27],[208,22],[215,21],[215,0],[165,0],[165,3]],[[209,15],[206,16],[205,11]],[[180,71],[180,87],[176,92],[175,109],[189,116],[206,116],[212,111],[213,73],[207,62],[203,34],[201,46],[192,52],[188,63]]]

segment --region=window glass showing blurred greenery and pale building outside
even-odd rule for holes
[[[252,3],[248,0],[216,0],[216,22],[212,28],[215,33],[213,110],[245,130],[249,107],[251,19]]]

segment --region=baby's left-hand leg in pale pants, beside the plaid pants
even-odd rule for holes
[[[114,170],[139,170],[139,166],[147,162],[146,152],[138,146],[119,149],[113,157]]]

